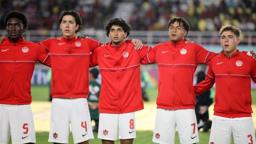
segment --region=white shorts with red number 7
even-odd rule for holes
[[[161,144],[174,144],[176,126],[181,144],[199,142],[194,109],[168,110],[160,108],[156,113],[152,141]]]

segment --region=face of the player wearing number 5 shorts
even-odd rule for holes
[[[11,41],[16,42],[19,38],[22,38],[22,33],[26,31],[23,28],[22,20],[17,18],[10,18],[7,22],[6,32]]]

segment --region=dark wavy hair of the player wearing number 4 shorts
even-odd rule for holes
[[[61,24],[62,19],[65,15],[71,15],[75,18],[76,25],[79,25],[78,29],[76,30],[76,33],[82,30],[82,18],[80,15],[75,11],[65,11],[59,18],[59,24]]]

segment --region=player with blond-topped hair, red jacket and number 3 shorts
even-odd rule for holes
[[[237,50],[240,29],[222,26],[223,53],[211,60],[205,81],[194,86],[196,95],[216,83],[215,105],[209,144],[255,143],[252,120],[251,78],[256,83],[256,61]]]

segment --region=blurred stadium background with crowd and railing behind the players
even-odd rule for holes
[[[186,38],[207,50],[221,51],[218,31],[222,25],[232,24],[242,30],[238,49],[256,51],[256,0],[0,0],[0,37],[6,37],[4,17],[11,10],[21,11],[27,16],[28,27],[23,34],[27,41],[39,42],[61,36],[59,16],[66,10],[75,10],[83,20],[83,30],[77,36],[89,36],[100,42],[110,40],[105,35],[104,25],[111,17],[121,17],[130,22],[132,31],[128,39],[137,38],[143,44],[151,46],[167,42],[168,20],[179,16],[190,24]],[[147,139],[151,140],[158,69],[154,64],[143,65],[141,68],[149,72],[153,88],[147,89],[150,102],[146,102],[145,109],[136,114],[137,130],[144,134],[148,133],[145,131],[150,131]],[[34,98],[32,109],[37,132],[47,132],[49,128],[51,103],[46,102],[49,93],[45,86],[47,70],[48,67],[37,63],[31,81]],[[256,84],[252,83],[252,88],[256,89]],[[256,92],[252,90],[254,103],[255,96]],[[40,142],[38,138],[37,142]]]

